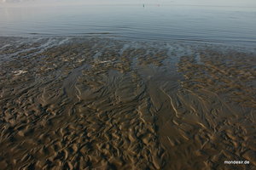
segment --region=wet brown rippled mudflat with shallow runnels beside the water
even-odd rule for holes
[[[1,37],[0,65],[3,169],[256,169],[256,49]]]

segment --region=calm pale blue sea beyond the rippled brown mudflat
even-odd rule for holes
[[[256,44],[254,4],[0,3],[0,36],[102,36]]]

